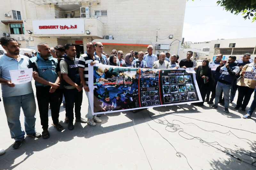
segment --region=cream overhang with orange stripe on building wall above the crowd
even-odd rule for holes
[[[123,45],[123,46],[142,46],[142,47],[148,47],[151,45],[151,41],[149,40],[105,40],[105,39],[95,39],[92,41],[95,42],[101,42],[105,45]]]

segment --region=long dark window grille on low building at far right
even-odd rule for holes
[[[244,47],[244,48],[214,48],[214,55],[244,55],[245,53],[250,53],[252,55],[256,54],[255,47]]]

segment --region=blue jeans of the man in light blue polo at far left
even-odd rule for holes
[[[36,102],[34,93],[3,97],[3,102],[12,139],[15,141],[23,140],[25,136],[25,132],[20,125],[20,107],[25,116],[24,126],[27,135],[32,135],[36,132]]]

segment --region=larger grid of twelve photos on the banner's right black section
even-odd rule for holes
[[[164,103],[196,100],[190,75],[162,76]]]

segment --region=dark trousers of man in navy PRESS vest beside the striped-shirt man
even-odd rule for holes
[[[73,122],[74,120],[74,104],[75,104],[75,116],[76,119],[81,118],[81,105],[83,101],[83,90],[78,92],[76,88],[74,89],[64,89],[66,94],[66,113],[68,116],[68,121]]]

